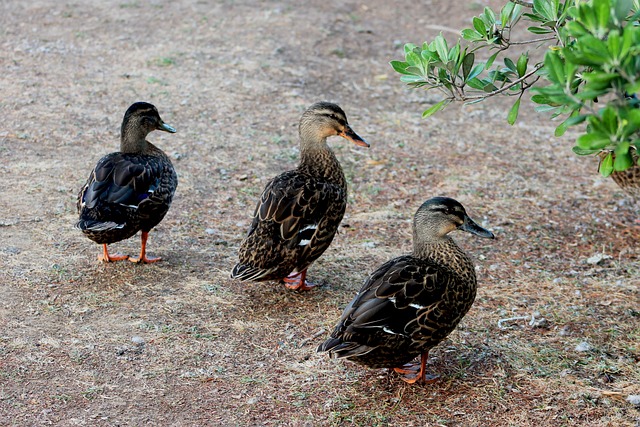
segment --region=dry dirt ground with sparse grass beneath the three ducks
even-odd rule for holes
[[[0,425],[640,425],[638,206],[531,108],[514,127],[500,101],[423,120],[436,98],[388,65],[405,42],[455,40],[487,3],[0,2]],[[309,270],[323,286],[232,281],[256,198],[295,166],[319,100],[371,143],[330,140],[350,193]],[[73,228],[76,195],[135,101],[178,130],[149,139],[180,184],[150,237],[164,260],[104,265]],[[454,236],[479,291],[432,351],[440,379],[316,354],[434,195],[498,237]]]

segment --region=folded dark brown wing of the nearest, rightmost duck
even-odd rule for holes
[[[367,279],[318,351],[351,357],[428,339],[451,280],[447,270],[412,256],[388,261]]]

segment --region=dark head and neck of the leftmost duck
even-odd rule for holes
[[[137,151],[147,135],[154,130],[175,133],[172,126],[160,118],[158,109],[148,102],[136,102],[127,109],[122,119],[122,151]]]

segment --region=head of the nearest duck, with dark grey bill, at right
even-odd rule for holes
[[[432,197],[418,208],[413,221],[414,234],[422,242],[437,241],[454,230],[494,239],[487,229],[476,224],[457,200]]]

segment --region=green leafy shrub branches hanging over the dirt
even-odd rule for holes
[[[485,8],[474,17],[473,28],[461,32],[464,45],[458,40],[450,46],[442,35],[422,46],[409,43],[405,60],[391,61],[391,66],[409,86],[444,95],[423,117],[453,101],[475,103],[502,95],[516,98],[507,114],[514,124],[530,89],[536,110],[563,119],[556,136],[569,126],[582,126],[573,151],[604,152],[600,171],[607,176],[632,166],[630,149],[640,149],[639,3],[511,0],[498,14]],[[523,22],[530,24],[531,38],[513,41],[513,29]],[[528,51],[508,56],[522,46],[546,49],[544,60],[531,64]],[[485,61],[477,61],[481,50],[490,53]]]

